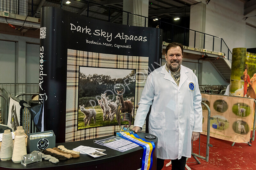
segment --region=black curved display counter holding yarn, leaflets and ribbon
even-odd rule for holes
[[[140,138],[145,138],[146,135],[150,135],[148,133],[137,133]],[[113,135],[111,135],[113,136]],[[59,145],[64,145],[65,148],[72,150],[80,145],[90,146],[94,148],[106,149],[104,153],[107,155],[93,158],[86,154],[80,154],[79,158],[71,158],[67,161],[60,161],[57,164],[53,164],[48,160],[42,159],[42,162],[36,162],[29,164],[27,166],[21,165],[21,163],[13,163],[12,160],[1,161],[0,160],[0,169],[88,169],[88,170],[137,170],[142,166],[142,156],[143,156],[143,148],[138,146],[129,151],[119,152],[103,145],[99,145],[93,143],[93,140],[100,140],[109,138],[111,136],[105,136],[101,138],[88,139],[82,141],[75,142],[67,142],[67,143],[58,143],[56,147]],[[153,141],[157,148],[158,139],[146,139],[148,141]],[[155,149],[153,153],[153,165],[152,170],[156,170],[156,155],[157,149]]]

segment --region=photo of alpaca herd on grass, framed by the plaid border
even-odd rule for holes
[[[80,66],[77,129],[118,125],[119,103],[122,113],[133,115],[135,74],[135,69]]]

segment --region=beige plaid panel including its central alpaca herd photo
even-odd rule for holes
[[[67,138],[84,140],[120,130],[119,103],[121,112],[134,118],[148,76],[148,57],[68,49],[67,64]],[[121,118],[121,124],[129,122]]]

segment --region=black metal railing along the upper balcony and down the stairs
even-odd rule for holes
[[[18,4],[20,5],[17,4],[17,1],[19,1]],[[159,19],[156,21],[153,18],[123,11],[121,10],[122,8],[113,8],[88,0],[73,1],[72,6],[66,5],[62,0],[47,0],[41,2],[38,0],[32,0],[30,1],[30,4],[28,4],[26,0],[5,0],[4,2],[1,2],[2,1],[0,1],[0,11],[9,11],[11,13],[17,13],[20,15],[24,15],[25,12],[24,16],[28,15],[36,18],[40,18],[40,8],[42,6],[52,6],[71,11],[79,15],[116,24],[153,28],[159,26],[159,28],[164,30],[163,41],[179,42],[184,46],[206,49],[214,52],[222,52],[225,53],[228,60],[232,60],[232,52],[229,50],[225,41],[220,37],[198,32],[178,25],[173,25]],[[83,6],[82,9],[81,6]],[[23,10],[22,14],[20,12],[21,9]]]

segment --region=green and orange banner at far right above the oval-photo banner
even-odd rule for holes
[[[229,95],[255,99],[255,90],[256,54],[246,48],[233,48]]]

